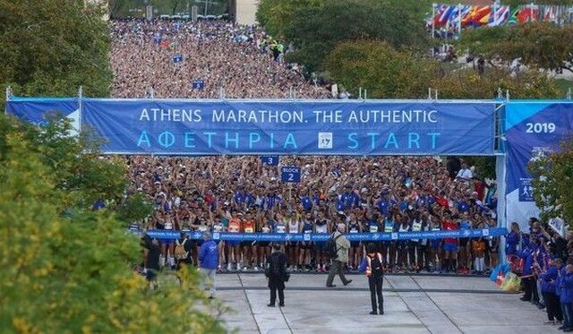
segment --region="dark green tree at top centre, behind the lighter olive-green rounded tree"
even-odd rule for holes
[[[423,45],[422,7],[415,0],[329,0],[321,6],[297,7],[285,29],[286,40],[295,47],[289,59],[314,72],[323,69],[330,51],[343,41],[380,39],[392,47]]]

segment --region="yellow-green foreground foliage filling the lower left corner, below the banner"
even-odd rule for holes
[[[0,130],[3,332],[224,331],[198,311],[206,299],[189,289],[195,273],[181,273],[183,289],[147,291],[130,268],[141,261],[138,238],[125,234],[113,208],[93,212],[81,205],[84,196],[113,199],[123,166],[99,159],[90,145],[81,150],[65,124],[39,130],[0,116]],[[79,164],[85,166],[76,170]]]

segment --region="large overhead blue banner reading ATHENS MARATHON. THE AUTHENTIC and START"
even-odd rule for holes
[[[106,153],[483,155],[493,101],[84,98]]]

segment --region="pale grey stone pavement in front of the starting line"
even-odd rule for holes
[[[488,278],[386,276],[384,315],[370,315],[363,275],[325,287],[325,275],[292,275],[286,307],[270,308],[262,274],[217,276],[218,299],[233,312],[222,318],[239,333],[552,333],[546,313],[507,294]]]

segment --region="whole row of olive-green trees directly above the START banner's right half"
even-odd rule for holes
[[[326,69],[334,81],[357,95],[359,87],[372,98],[425,98],[428,88],[439,98],[496,98],[498,89],[511,98],[562,98],[563,92],[543,72],[512,75],[488,67],[483,75],[472,68],[440,71],[440,64],[410,51],[397,51],[381,41],[341,43],[328,56]]]

